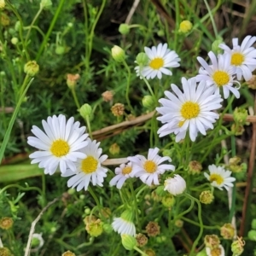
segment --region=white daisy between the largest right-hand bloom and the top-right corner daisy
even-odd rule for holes
[[[207,85],[212,85],[218,93],[220,88],[222,88],[225,99],[230,96],[230,91],[236,98],[239,98],[239,88],[233,87],[234,83],[237,83],[239,86],[240,84],[238,81],[234,80],[236,68],[230,66],[231,55],[218,55],[217,58],[212,51],[210,51],[208,55],[212,61],[212,65],[208,65],[201,57],[197,57],[202,67],[199,69],[199,74],[195,77],[196,81],[200,82],[201,80],[205,80]]]

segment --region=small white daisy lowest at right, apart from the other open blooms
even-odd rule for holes
[[[210,175],[207,172],[204,173],[207,180],[211,182],[212,187],[223,190],[223,188],[229,190],[230,187],[233,187],[233,182],[236,181],[235,177],[231,177],[230,171],[226,171],[222,166],[208,166]]]

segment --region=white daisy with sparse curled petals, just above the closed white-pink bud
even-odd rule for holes
[[[175,166],[172,165],[160,165],[160,163],[168,160],[171,162],[169,156],[160,157],[157,153],[159,148],[149,148],[148,159],[143,155],[137,154],[136,156],[129,156],[127,160],[130,160],[133,167],[133,175],[135,177],[140,177],[143,183],[148,186],[159,185],[158,176],[166,172],[166,170],[175,170]]]

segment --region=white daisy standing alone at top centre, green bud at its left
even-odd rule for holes
[[[179,67],[180,58],[174,50],[167,49],[167,44],[158,44],[151,49],[144,48],[148,55],[148,65],[144,67],[135,67],[137,76],[143,76],[146,79],[162,78],[162,73],[172,76],[169,67]]]

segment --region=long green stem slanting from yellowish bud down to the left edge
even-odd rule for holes
[[[12,118],[9,121],[9,126],[8,126],[7,131],[5,132],[5,135],[3,137],[3,143],[2,143],[2,146],[0,148],[0,164],[3,160],[3,154],[4,154],[5,148],[7,146],[7,143],[9,142],[9,137],[10,137],[11,131],[13,129],[13,126],[15,124],[15,119],[17,117],[17,114],[19,113],[20,105],[21,105],[21,103],[23,102],[23,100],[26,96],[26,91],[28,90],[29,86],[32,84],[32,80],[33,79],[30,79],[30,81],[26,84],[26,88],[23,91],[22,95],[20,96],[19,102],[17,103],[17,106],[15,108],[15,112],[13,113]]]

